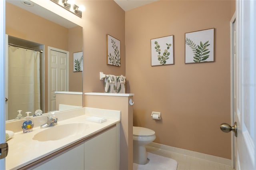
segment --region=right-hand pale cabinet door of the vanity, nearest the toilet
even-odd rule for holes
[[[90,138],[84,143],[85,170],[117,170],[119,154],[116,127]]]

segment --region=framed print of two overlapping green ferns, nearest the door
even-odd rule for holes
[[[214,28],[185,33],[185,64],[214,62]]]

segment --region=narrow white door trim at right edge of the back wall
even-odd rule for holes
[[[230,117],[231,117],[231,125],[234,125],[234,113],[233,113],[233,23],[236,21],[236,12],[234,12],[231,20],[230,20]],[[234,169],[234,154],[235,154],[235,146],[234,146],[234,135],[231,135],[231,168]]]

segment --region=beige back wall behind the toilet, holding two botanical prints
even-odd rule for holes
[[[230,19],[234,1],[159,1],[126,12],[126,77],[134,125],[154,142],[231,159]],[[214,28],[212,63],[184,64],[184,34]],[[150,39],[174,35],[174,65],[151,67]],[[151,119],[152,111],[162,120]]]

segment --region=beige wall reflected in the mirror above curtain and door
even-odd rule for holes
[[[48,46],[70,52],[69,91],[82,91],[82,72],[73,72],[73,53],[82,51],[82,28],[64,28],[31,12],[6,3],[6,34],[44,46],[45,111],[48,110]]]

